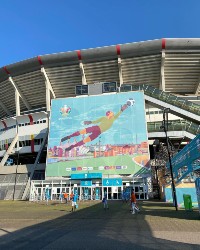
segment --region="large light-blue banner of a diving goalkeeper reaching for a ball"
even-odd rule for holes
[[[143,92],[52,100],[46,176],[148,170]]]

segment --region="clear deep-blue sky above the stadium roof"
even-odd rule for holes
[[[1,0],[0,67],[38,55],[199,38],[200,0]]]

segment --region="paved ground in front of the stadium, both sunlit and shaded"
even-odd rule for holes
[[[130,205],[110,201],[104,211],[99,201],[70,204],[0,201],[0,249],[200,249],[197,210],[175,211],[164,202]]]

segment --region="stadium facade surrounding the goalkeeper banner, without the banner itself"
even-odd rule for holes
[[[145,171],[95,176],[102,172],[87,169],[90,185],[82,176],[72,178],[71,172],[45,174],[52,100],[142,92],[151,158],[165,143],[163,110],[170,110],[168,136],[174,149],[200,131],[200,39],[159,39],[37,56],[2,67],[0,84],[1,199],[25,199],[30,190],[42,197],[47,187],[51,198],[76,189],[94,199],[105,191],[108,198],[119,199],[124,188],[132,186],[138,198],[148,198],[151,181]],[[159,165],[166,163],[158,160]],[[104,183],[109,179],[112,184]]]

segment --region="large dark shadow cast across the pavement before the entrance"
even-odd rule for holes
[[[83,209],[81,206],[80,203],[80,209],[73,213],[69,212],[70,206],[64,206],[64,209],[59,209],[64,215],[56,219],[40,222],[39,217],[33,218],[35,225],[2,235],[0,249],[199,249],[198,244],[181,243],[154,236],[147,219],[149,215],[161,216],[159,224],[163,223],[162,217],[171,215],[171,218],[179,218],[175,211],[169,212],[167,207],[165,210],[160,203],[155,205],[155,202],[141,202],[141,214],[135,215],[129,212],[129,205],[121,201],[110,201],[109,210],[106,211],[101,203]],[[155,210],[155,206],[158,206],[158,209]],[[23,223],[23,218],[20,222]],[[1,230],[5,233],[9,231],[6,225]]]

